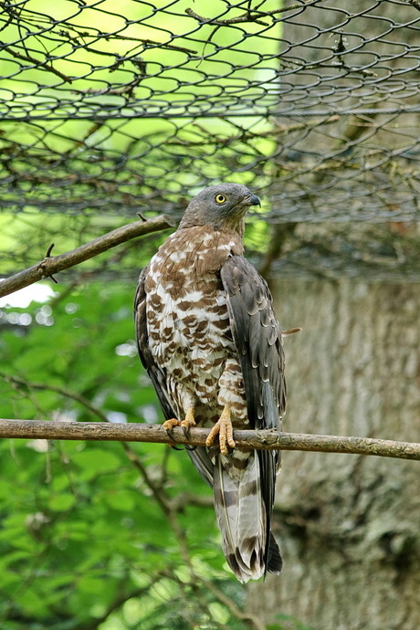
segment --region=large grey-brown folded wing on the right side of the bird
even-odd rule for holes
[[[286,406],[284,352],[281,329],[272,308],[266,281],[246,258],[233,256],[221,269],[227,310],[242,367],[247,414],[256,429],[281,429]],[[257,451],[261,493],[267,514],[266,571],[278,573],[281,557],[270,533],[276,489],[278,451]]]

